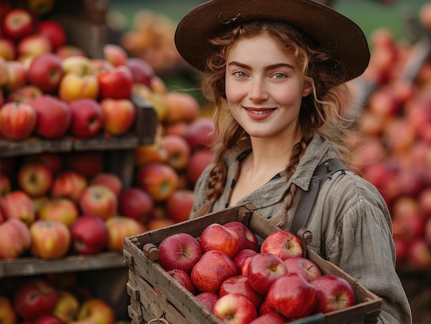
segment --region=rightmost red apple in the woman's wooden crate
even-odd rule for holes
[[[344,278],[325,274],[311,285],[317,290],[315,312],[326,314],[355,305],[355,292]]]

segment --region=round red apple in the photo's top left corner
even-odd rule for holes
[[[22,39],[34,31],[34,16],[25,8],[12,8],[1,21],[3,33],[12,39]]]

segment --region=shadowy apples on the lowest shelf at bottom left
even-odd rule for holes
[[[76,286],[76,276],[26,277],[5,285],[0,296],[4,324],[120,324],[112,305]],[[75,285],[75,286],[74,286]],[[6,294],[7,292],[7,294]]]

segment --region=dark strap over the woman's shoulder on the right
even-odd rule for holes
[[[301,199],[299,199],[299,204],[293,216],[291,233],[297,234],[300,228],[304,228],[311,213],[311,209],[313,208],[317,193],[319,192],[320,184],[340,170],[348,170],[348,167],[337,158],[328,159],[317,166],[311,177],[308,191],[304,191]]]

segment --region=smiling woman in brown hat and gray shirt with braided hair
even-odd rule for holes
[[[349,165],[342,118],[346,83],[370,58],[361,29],[311,0],[213,0],[176,30],[185,61],[203,73],[215,106],[213,163],[195,187],[191,217],[251,203],[291,229],[317,166]],[[319,188],[305,227],[310,248],[383,299],[379,323],[411,323],[395,272],[388,208],[377,189],[351,171]]]

